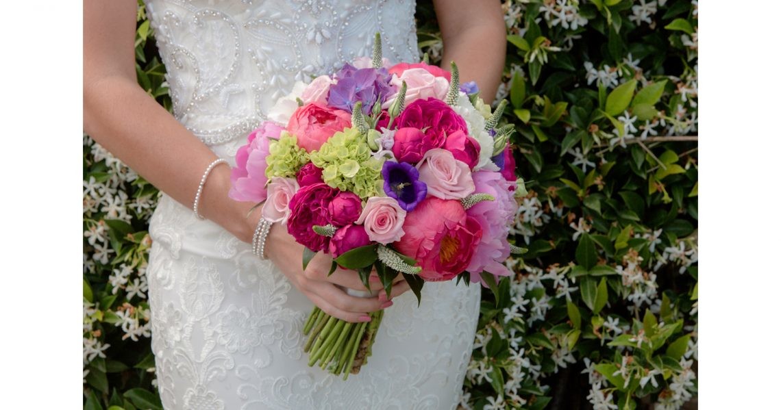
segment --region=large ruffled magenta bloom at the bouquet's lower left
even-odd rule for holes
[[[328,249],[328,237],[316,234],[312,226],[330,223],[328,205],[339,190],[326,184],[301,187],[290,201],[291,215],[287,219],[287,232],[295,240],[312,251]]]

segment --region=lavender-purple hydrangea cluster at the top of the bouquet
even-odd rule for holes
[[[374,103],[385,102],[388,95],[396,92],[391,86],[391,75],[385,68],[357,69],[344,64],[337,73],[337,84],[328,92],[328,105],[352,112],[356,102],[362,103],[362,112],[367,116],[372,112]]]

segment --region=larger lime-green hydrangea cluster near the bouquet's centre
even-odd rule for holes
[[[355,128],[333,134],[310,159],[323,169],[323,181],[330,187],[355,192],[362,199],[380,194],[383,162],[372,157],[366,137]]]

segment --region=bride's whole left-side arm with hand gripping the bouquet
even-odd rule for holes
[[[135,0],[84,1],[84,130],[160,191],[191,207],[201,176],[216,155],[138,86],[136,8]],[[247,218],[253,204],[228,198],[229,189],[230,168],[217,166],[201,193],[198,212],[249,242],[259,216]],[[366,312],[387,307],[380,298],[355,298],[341,291],[336,285],[363,285],[355,272],[337,269],[327,276],[331,260],[322,253],[306,271],[301,269],[303,247],[279,224],[269,234],[266,251],[291,283],[331,316],[368,321]],[[399,284],[394,294],[404,290]]]

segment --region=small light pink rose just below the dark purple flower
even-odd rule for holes
[[[366,201],[358,225],[363,224],[369,239],[380,244],[401,241],[404,236],[404,219],[407,211],[401,209],[398,201],[388,197],[372,197]]]

